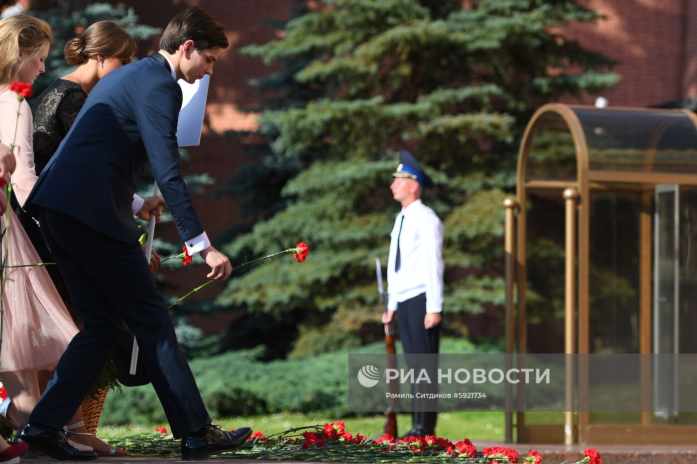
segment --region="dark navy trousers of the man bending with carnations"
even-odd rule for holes
[[[29,420],[54,428],[68,424],[128,326],[174,437],[210,424],[140,245],[110,238],[47,208],[41,208],[39,221],[85,326],[61,356]]]

